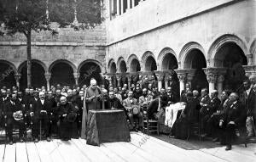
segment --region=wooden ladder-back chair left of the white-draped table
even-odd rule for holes
[[[151,132],[157,132],[157,135],[159,136],[159,122],[158,120],[149,120],[148,119],[148,104],[145,104],[141,106],[141,109],[143,110],[143,133],[151,133]]]

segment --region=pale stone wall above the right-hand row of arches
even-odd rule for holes
[[[143,54],[150,51],[160,70],[163,49],[171,48],[181,65],[182,54],[186,54],[183,47],[195,42],[204,53],[207,66],[214,66],[212,58],[216,50],[212,47],[228,40],[241,47],[245,55],[253,55],[251,64],[255,64],[255,11],[254,0],[144,1],[108,20],[107,61],[113,59],[117,63],[123,57],[127,63],[131,54],[135,54],[143,64]]]

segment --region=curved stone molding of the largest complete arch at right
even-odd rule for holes
[[[218,53],[218,50],[224,46],[227,42],[234,42],[238,47],[241,47],[242,52],[245,54],[245,56],[248,57],[248,48],[246,45],[246,41],[242,40],[240,37],[236,35],[231,34],[225,34],[223,36],[219,36],[214,42],[212,42],[211,47],[208,50],[207,54],[207,62],[208,65],[211,67],[214,67],[214,62],[216,59],[216,53]],[[247,62],[249,62],[247,60]]]

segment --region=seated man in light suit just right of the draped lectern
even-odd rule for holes
[[[133,95],[133,92],[129,91],[128,98],[126,98],[123,101],[123,105],[124,105],[125,109],[128,111],[128,117],[129,117],[129,120],[131,121],[132,129],[134,131],[137,131],[137,129],[142,130],[142,128],[143,128],[143,113],[139,109],[137,99],[132,98],[132,95]],[[138,111],[136,112],[135,109],[137,109]],[[137,120],[138,120],[137,127],[135,126],[134,118],[137,118]]]

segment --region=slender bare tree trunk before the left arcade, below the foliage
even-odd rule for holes
[[[26,56],[27,56],[27,61],[26,61],[26,76],[27,76],[27,87],[31,88],[31,31],[27,32],[26,36]]]

